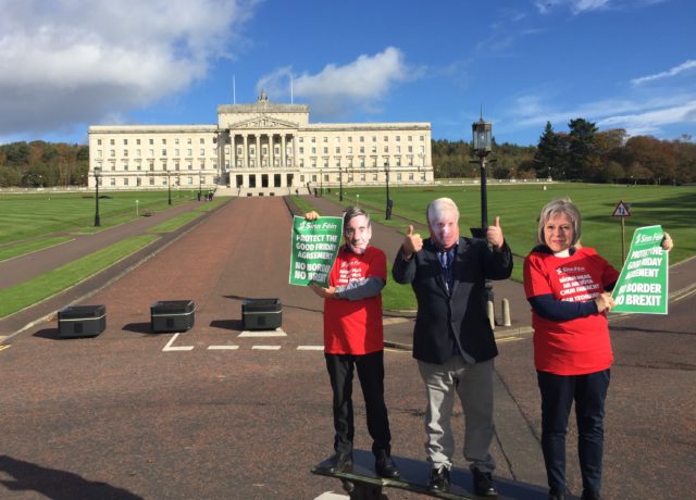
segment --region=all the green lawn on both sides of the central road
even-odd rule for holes
[[[100,195],[102,192],[100,191]],[[140,215],[148,210],[159,212],[166,210],[167,193],[152,192],[104,192],[107,198],[99,200],[99,211],[102,227],[121,224]],[[331,195],[338,200],[338,192]],[[495,215],[500,216],[500,225],[512,251],[520,259],[534,246],[536,218],[540,208],[559,196],[570,196],[579,205],[583,214],[583,243],[596,248],[616,267],[621,267],[621,222],[611,216],[616,204],[623,200],[631,203],[632,216],[625,220],[625,247],[630,246],[633,230],[639,226],[661,224],[670,232],[674,239],[674,250],[670,253],[672,263],[696,254],[696,228],[692,222],[692,214],[696,213],[695,187],[670,186],[613,186],[586,184],[543,184],[519,183],[517,185],[488,185],[488,215],[493,223]],[[437,197],[450,197],[461,211],[461,230],[468,235],[469,228],[481,223],[481,192],[477,186],[393,188],[390,196],[394,200],[394,217],[384,220],[385,190],[384,188],[346,188],[344,189],[344,204],[359,204],[365,207],[375,222],[399,227],[406,230],[408,224],[414,224],[423,236],[425,228],[425,207]],[[172,192],[173,203],[183,203],[196,199],[196,191],[181,190]],[[217,201],[217,200],[215,200]],[[302,197],[296,201],[303,211],[311,210],[311,198]],[[211,210],[216,203],[204,203],[194,210],[191,214],[183,214],[173,221],[154,228],[157,232],[172,230],[191,220],[200,211]],[[84,193],[32,193],[5,195],[0,193],[0,259],[9,259],[17,254],[36,251],[46,246],[60,242],[54,233],[92,232],[95,215],[94,192]],[[62,235],[60,235],[62,236]],[[124,241],[125,243],[125,241]],[[126,253],[135,251],[139,245],[124,245],[115,255],[103,262],[113,262]],[[128,250],[130,249],[130,250]],[[109,249],[104,249],[109,252]],[[89,255],[89,259],[94,255]],[[101,259],[101,258],[100,258]],[[520,263],[521,264],[521,263]],[[16,311],[30,304],[32,300],[60,291],[61,287],[84,279],[97,270],[88,261],[76,261],[74,267],[61,268],[61,276],[46,276],[41,279],[22,284],[23,288],[10,287],[0,290],[0,304],[4,305],[4,314],[9,310]],[[513,278],[521,279],[521,265],[515,265]],[[59,270],[57,270],[58,272]],[[52,272],[55,273],[55,272]],[[51,273],[49,273],[51,274]],[[65,274],[71,275],[65,278]],[[49,279],[50,283],[44,279]],[[24,288],[26,287],[26,288]],[[36,295],[35,289],[44,289]],[[50,291],[51,293],[46,295]],[[10,303],[11,297],[22,296],[22,301]],[[40,297],[39,297],[40,296]],[[389,283],[384,293],[385,308],[413,309],[414,302],[410,287],[395,286]],[[0,317],[3,314],[0,313]]]

